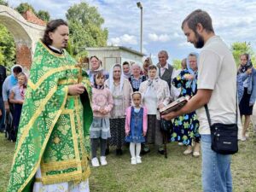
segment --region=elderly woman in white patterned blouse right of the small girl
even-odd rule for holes
[[[148,152],[147,144],[154,143],[158,146],[160,154],[164,154],[163,135],[160,131],[160,113],[159,108],[163,108],[170,102],[170,90],[166,81],[158,77],[157,67],[150,65],[148,67],[148,80],[140,86],[140,92],[143,93],[143,105],[148,108],[148,134],[147,143],[143,152]]]

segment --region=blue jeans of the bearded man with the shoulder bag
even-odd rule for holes
[[[211,135],[201,135],[202,187],[204,192],[231,192],[230,154],[217,154],[211,148]]]

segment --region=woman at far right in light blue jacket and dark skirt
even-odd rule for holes
[[[246,141],[246,131],[250,124],[250,115],[253,113],[253,104],[256,99],[256,70],[248,54],[240,55],[241,65],[237,72],[238,98],[241,118],[244,115],[244,125],[241,131],[241,141]],[[239,81],[241,82],[239,85]]]

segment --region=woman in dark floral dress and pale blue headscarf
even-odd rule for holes
[[[172,80],[172,84],[177,88],[181,88],[180,96],[192,97],[196,94],[196,80],[197,80],[197,60],[198,55],[196,53],[190,53],[187,58],[187,68],[181,71],[181,73]],[[200,156],[200,134],[198,131],[199,121],[196,113],[188,113],[183,116],[179,116],[173,121],[172,141],[183,143],[188,148],[183,154],[191,154],[193,156]],[[192,140],[195,141],[194,152],[192,148]]]

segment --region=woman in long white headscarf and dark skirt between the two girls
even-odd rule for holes
[[[125,143],[125,110],[131,104],[131,84],[122,74],[120,64],[113,65],[109,79],[105,85],[113,96],[113,109],[110,113],[110,145],[116,146],[116,154],[123,154],[122,145]]]

